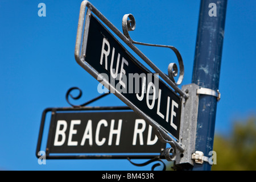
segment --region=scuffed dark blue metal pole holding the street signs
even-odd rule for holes
[[[218,90],[227,1],[201,0],[192,76],[192,83],[201,88]],[[216,108],[216,97],[200,95],[196,151],[203,152],[207,157],[213,150]],[[192,170],[210,170],[211,167],[204,162],[195,164]]]

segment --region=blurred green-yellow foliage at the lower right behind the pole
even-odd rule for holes
[[[256,118],[234,122],[228,138],[216,135],[213,150],[217,164],[212,170],[256,170]]]

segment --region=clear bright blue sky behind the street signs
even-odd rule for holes
[[[41,2],[46,4],[46,17],[38,16]],[[123,15],[133,14],[137,27],[130,36],[135,41],[175,46],[185,67],[181,85],[191,83],[200,1],[90,2],[120,31]],[[65,93],[72,86],[83,91],[80,104],[99,95],[98,81],[84,71],[74,57],[80,4],[81,1],[71,0],[0,2],[0,169],[151,168],[134,167],[127,160],[47,160],[46,165],[38,164],[35,150],[43,110],[69,106]],[[256,113],[255,9],[255,0],[228,1],[221,100],[216,115],[218,134],[229,133],[234,119]],[[168,64],[176,61],[168,49],[137,47],[165,73]],[[122,105],[115,96],[108,96],[90,106]]]

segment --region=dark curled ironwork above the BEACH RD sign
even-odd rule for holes
[[[71,92],[73,92],[73,90],[78,90],[78,91],[79,91],[79,94],[78,94],[76,97],[71,94]],[[68,92],[66,93],[65,98],[66,98],[66,101],[68,102],[69,105],[71,105],[71,106],[73,106],[73,107],[83,107],[83,106],[86,106],[86,105],[88,105],[88,104],[91,104],[91,103],[94,102],[94,101],[99,100],[99,99],[102,98],[102,97],[105,97],[105,96],[108,95],[109,93],[110,93],[110,92],[101,94],[100,96],[95,97],[95,98],[93,98],[92,100],[85,102],[84,104],[81,104],[81,105],[73,105],[73,104],[71,104],[71,102],[69,101],[69,96],[70,96],[73,100],[79,100],[79,99],[82,97],[82,90],[81,90],[80,88],[78,88],[78,87],[72,87],[72,88],[68,89]]]

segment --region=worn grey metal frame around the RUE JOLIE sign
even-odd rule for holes
[[[86,13],[87,15],[86,15],[86,20],[85,20],[86,7],[88,7],[88,9],[87,9],[87,13]],[[121,40],[123,40],[123,42],[125,42],[127,44],[127,46],[129,46],[131,49],[133,49],[133,51],[135,53],[137,53],[138,56],[140,56],[148,65],[150,65],[150,67],[152,69],[154,69],[154,71],[156,73],[158,73],[159,76],[161,76],[164,81],[166,81],[173,89],[175,89],[175,91],[180,94],[180,99],[188,98],[187,94],[185,92],[183,92],[183,90],[181,90],[177,87],[177,84],[172,82],[172,80],[170,80],[170,78],[168,78],[162,71],[160,71],[159,68],[157,68],[141,51],[139,51],[139,49],[137,47],[134,46],[134,44],[133,44],[134,42],[131,39],[129,39],[125,35],[123,35],[111,22],[109,22],[108,19],[105,18],[104,15],[102,15],[100,13],[100,11],[98,11],[96,9],[96,7],[94,7],[88,1],[83,1],[81,3],[79,24],[78,24],[78,28],[77,28],[76,46],[75,46],[75,59],[76,59],[77,63],[82,68],[85,69],[85,71],[87,71],[88,73],[90,73],[90,75],[92,75],[94,78],[97,79],[98,73],[94,69],[92,69],[92,67],[90,67],[88,64],[86,64],[86,62],[84,61],[86,35],[88,35],[88,26],[89,26],[89,24],[86,22],[89,21],[90,15],[92,13],[94,13],[94,15],[96,15],[99,19],[101,19],[102,22],[104,22],[106,24],[106,26],[108,26],[110,28],[110,30],[112,30],[119,38],[121,38]],[[85,20],[85,29],[83,29],[84,28],[84,20]],[[84,31],[84,38],[82,39],[83,30],[85,30],[85,31]],[[82,46],[81,46],[81,44],[82,44]],[[177,54],[179,55],[179,52],[177,50],[175,51],[175,53],[176,53],[176,55]],[[109,88],[112,88],[112,85],[110,85],[107,81],[103,80],[103,82],[105,85],[109,85]],[[158,135],[158,138],[162,139],[162,141],[164,143],[170,143],[172,147],[175,147],[175,150],[177,148],[177,150],[179,150],[180,152],[184,151],[184,148],[181,147],[180,143],[178,143],[179,138],[177,138],[177,140],[178,140],[178,142],[177,142],[175,139],[173,139],[168,134],[168,131],[166,131],[163,127],[161,127],[158,123],[156,123],[152,118],[148,117],[148,115],[144,114],[131,101],[127,100],[126,97],[123,97],[121,93],[115,92],[115,96],[117,96],[120,100],[125,102],[125,104],[127,106],[129,106],[131,109],[133,109],[135,111],[135,113],[140,115],[149,125],[151,125],[153,127],[153,129],[155,130],[156,135]]]

